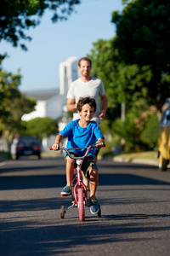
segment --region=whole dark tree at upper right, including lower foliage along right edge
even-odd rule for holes
[[[170,2],[166,0],[133,0],[122,14],[114,11],[116,24],[114,48],[118,49],[126,65],[148,67],[150,81],[148,101],[161,109],[170,89]]]

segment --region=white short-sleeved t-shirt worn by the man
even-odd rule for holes
[[[70,88],[67,93],[67,99],[75,99],[75,102],[78,102],[80,97],[90,96],[95,99],[97,108],[94,113],[93,121],[97,123],[101,123],[101,119],[99,119],[99,96],[103,96],[105,94],[105,87],[100,79],[96,79],[92,77],[92,79],[88,83],[83,83],[79,78],[73,81],[70,85]],[[73,120],[79,119],[80,116],[78,113],[73,113]]]

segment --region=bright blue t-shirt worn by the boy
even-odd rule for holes
[[[99,137],[104,138],[99,126],[94,121],[90,121],[86,128],[82,128],[78,125],[78,120],[71,121],[59,132],[63,137],[68,137],[66,148],[85,148],[96,143]],[[71,151],[85,154],[86,149],[73,149]],[[94,156],[94,148],[90,149],[89,154]]]

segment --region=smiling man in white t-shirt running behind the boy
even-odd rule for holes
[[[88,57],[82,57],[78,61],[78,70],[80,71],[80,78],[73,81],[70,85],[70,88],[67,93],[66,108],[69,112],[73,112],[73,120],[80,119],[80,116],[77,113],[77,102],[79,98],[85,96],[93,97],[97,104],[97,109],[92,120],[99,125],[102,119],[105,118],[105,113],[107,110],[107,96],[105,95],[105,87],[102,80],[91,77],[91,67],[92,62]],[[101,109],[99,106],[99,97],[101,99]],[[97,162],[98,154],[99,149],[96,148],[94,152],[95,163]],[[88,181],[85,182],[85,177],[83,177],[83,181],[87,185]]]

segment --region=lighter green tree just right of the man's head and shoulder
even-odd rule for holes
[[[126,65],[118,50],[113,48],[115,40],[99,39],[88,57],[92,60],[92,74],[105,84],[109,108],[116,110],[117,103],[125,102],[127,108],[131,108],[140,98],[148,100],[148,84],[152,73],[150,67]]]

